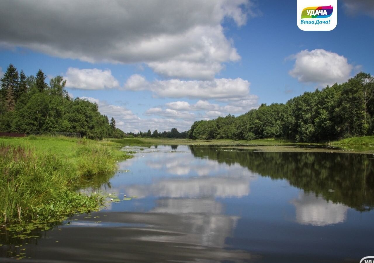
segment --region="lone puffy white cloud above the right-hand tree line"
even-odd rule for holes
[[[289,74],[299,82],[321,85],[341,83],[349,79],[353,69],[347,58],[324,49],[303,50],[291,58],[295,59],[295,65]]]

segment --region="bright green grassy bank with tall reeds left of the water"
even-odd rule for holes
[[[74,189],[129,158],[120,146],[105,140],[0,138],[0,224],[53,221],[97,209],[100,196]]]

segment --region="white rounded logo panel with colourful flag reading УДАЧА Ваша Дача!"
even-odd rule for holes
[[[303,31],[333,30],[337,25],[337,0],[297,0],[296,15],[297,26]]]

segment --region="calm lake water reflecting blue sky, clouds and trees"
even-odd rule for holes
[[[136,150],[100,187],[120,202],[22,247],[5,244],[0,261],[23,248],[24,262],[359,263],[374,254],[373,155]]]

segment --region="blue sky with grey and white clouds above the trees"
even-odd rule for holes
[[[186,131],[374,74],[374,1],[337,4],[334,30],[302,31],[296,0],[1,0],[0,76],[42,69],[125,132]]]

